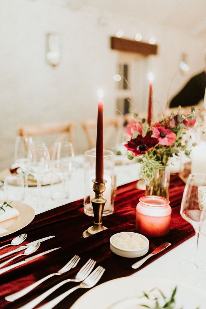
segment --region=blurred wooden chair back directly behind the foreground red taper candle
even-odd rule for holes
[[[113,118],[104,119],[104,145],[105,148],[111,148],[112,144],[115,146],[115,142],[119,142],[123,131],[125,119],[121,115],[116,115]],[[96,146],[96,128],[97,119],[87,119],[82,122],[82,128],[86,133],[89,149]],[[107,145],[108,142],[111,145]]]

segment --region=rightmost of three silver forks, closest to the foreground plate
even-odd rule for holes
[[[89,289],[100,280],[103,273],[105,271],[105,268],[102,266],[98,266],[84,281],[82,281],[78,286],[73,287],[72,289],[64,292],[63,294],[57,296],[56,298],[52,299],[49,303],[46,303],[45,305],[39,307],[42,309],[52,309],[54,308],[58,303],[60,303],[65,297],[67,297],[69,294],[74,292],[77,289]],[[64,282],[64,281],[63,281]],[[23,307],[22,307],[23,308]],[[25,307],[26,308],[26,307]],[[30,309],[30,307],[28,307]]]

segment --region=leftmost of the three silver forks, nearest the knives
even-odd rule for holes
[[[28,292],[33,290],[35,287],[37,287],[38,285],[40,285],[42,282],[46,281],[50,277],[53,277],[55,275],[62,275],[63,273],[66,273],[67,271],[69,271],[71,268],[76,267],[79,260],[80,260],[80,257],[78,255],[73,256],[72,259],[70,261],[68,261],[68,263],[63,268],[59,269],[59,271],[57,273],[51,273],[51,274],[47,275],[46,277],[38,280],[37,282],[34,282],[30,286],[27,286],[26,288],[24,288],[24,289],[22,289],[22,290],[20,290],[16,293],[13,293],[13,294],[6,296],[5,299],[8,300],[9,302],[13,302],[14,300],[26,295]]]

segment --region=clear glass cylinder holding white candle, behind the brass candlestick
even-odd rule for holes
[[[84,213],[88,216],[94,216],[93,208],[90,200],[94,197],[93,182],[95,179],[95,161],[96,150],[87,150],[84,153]],[[107,180],[105,184],[105,191],[103,198],[107,200],[103,216],[112,214],[114,211],[114,193],[115,193],[115,181],[114,181],[114,152],[110,150],[104,150],[104,176]]]

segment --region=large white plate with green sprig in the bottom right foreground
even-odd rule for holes
[[[107,271],[107,270],[106,270]],[[105,271],[105,272],[106,272]],[[123,277],[107,281],[83,294],[71,309],[139,309],[143,298],[136,302],[142,292],[153,288],[160,289],[166,297],[172,295],[177,286],[175,308],[205,309],[205,293],[187,283],[165,279],[163,277]],[[145,300],[146,304],[147,300]]]

